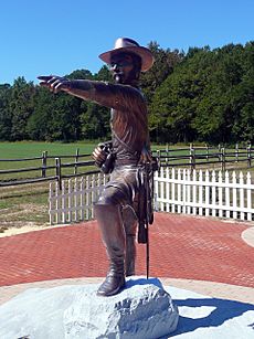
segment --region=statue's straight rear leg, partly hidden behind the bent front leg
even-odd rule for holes
[[[135,275],[137,216],[130,206],[123,209],[123,220],[126,233],[126,276]]]

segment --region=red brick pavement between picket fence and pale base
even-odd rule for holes
[[[254,250],[246,224],[156,213],[150,226],[150,275],[254,287]],[[137,274],[146,274],[138,245]],[[0,286],[105,276],[107,258],[96,221],[0,239]]]

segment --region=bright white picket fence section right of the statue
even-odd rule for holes
[[[157,211],[252,221],[251,173],[161,168],[155,173]]]

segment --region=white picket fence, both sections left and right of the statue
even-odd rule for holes
[[[108,181],[102,173],[50,184],[50,223],[94,218],[93,204]],[[155,172],[155,210],[193,215],[254,220],[251,173],[161,168]]]

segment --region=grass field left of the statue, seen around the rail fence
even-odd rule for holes
[[[47,156],[52,157],[75,156],[77,148],[80,155],[91,155],[95,146],[96,144],[92,142],[0,142],[0,160],[41,157],[43,151],[47,151]],[[51,165],[50,162],[53,163],[54,159],[49,160],[47,165]],[[0,161],[0,170],[40,167],[41,163],[41,159]],[[40,171],[38,173],[0,173],[0,181],[7,180],[10,177],[17,179],[36,174],[40,176]],[[13,226],[21,227],[30,224],[40,226],[49,223],[49,182],[2,187],[0,191],[0,232],[4,232],[6,229]]]

